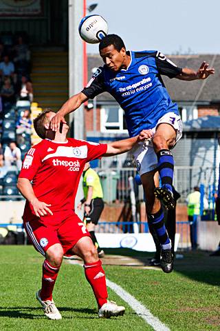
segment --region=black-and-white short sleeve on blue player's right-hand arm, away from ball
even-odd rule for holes
[[[155,56],[155,61],[157,65],[157,70],[159,74],[164,74],[165,76],[168,76],[169,78],[174,78],[178,74],[181,74],[182,69],[178,68],[175,63],[170,61],[170,59],[167,59],[164,54],[161,52],[157,52]]]

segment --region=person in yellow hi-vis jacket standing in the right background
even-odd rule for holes
[[[190,222],[190,241],[192,250],[197,249],[197,216],[200,214],[200,199],[201,193],[198,186],[195,186],[194,191],[188,194],[187,202],[187,214],[188,221]],[[208,201],[206,197],[203,198],[203,209],[208,209]]]

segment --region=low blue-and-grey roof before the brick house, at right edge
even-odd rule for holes
[[[208,115],[184,122],[184,131],[220,131],[220,117]]]

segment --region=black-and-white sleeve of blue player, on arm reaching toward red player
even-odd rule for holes
[[[87,83],[87,86],[81,92],[85,94],[88,99],[94,99],[96,95],[105,91],[103,68],[100,67],[96,70],[89,83]]]

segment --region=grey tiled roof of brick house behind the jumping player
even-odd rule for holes
[[[208,62],[215,68],[215,74],[207,80],[181,81],[179,79],[169,79],[162,76],[170,97],[179,103],[191,103],[197,99],[199,104],[219,104],[220,103],[220,54],[198,54],[198,55],[167,55],[180,68],[188,67],[197,70],[203,61]],[[213,62],[214,61],[214,62]],[[91,76],[91,69],[102,66],[103,62],[99,54],[88,57],[88,76]],[[206,82],[206,83],[204,83]],[[202,87],[203,85],[203,88]],[[199,93],[199,91],[201,92]],[[98,101],[113,101],[113,97],[107,92],[98,96]]]

